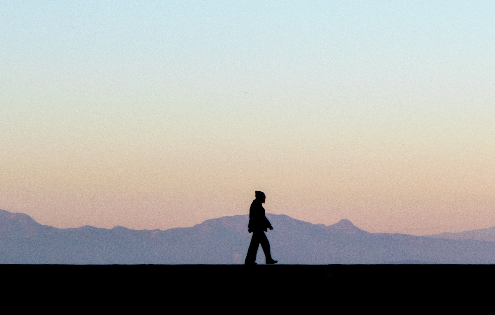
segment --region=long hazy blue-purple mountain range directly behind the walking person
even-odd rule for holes
[[[373,234],[346,219],[326,226],[266,216],[274,227],[267,233],[272,255],[281,264],[495,263],[495,242]],[[242,264],[250,241],[247,222],[248,215],[236,215],[165,231],[57,229],[0,210],[0,263]]]

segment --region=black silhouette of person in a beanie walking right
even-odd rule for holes
[[[270,243],[265,235],[265,232],[267,232],[268,229],[273,230],[270,221],[265,217],[265,208],[261,205],[261,203],[265,203],[265,193],[256,191],[255,197],[256,198],[252,200],[251,207],[249,208],[247,232],[252,232],[252,237],[249,248],[247,249],[244,264],[256,265],[256,253],[258,252],[259,244],[261,244],[261,248],[263,248],[263,252],[265,253],[266,263],[275,264],[277,261],[272,259],[272,255],[270,254]]]

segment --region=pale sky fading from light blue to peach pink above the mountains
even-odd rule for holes
[[[0,208],[495,226],[494,1],[240,2],[1,1]]]

